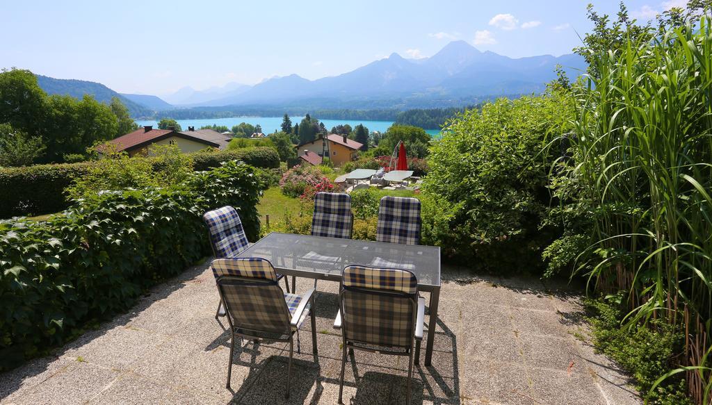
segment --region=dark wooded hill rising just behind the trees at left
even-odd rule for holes
[[[97,101],[109,103],[112,97],[117,97],[128,108],[132,117],[150,117],[154,111],[116,93],[101,83],[74,79],[56,79],[37,75],[37,83],[48,94],[70,95],[83,98],[85,94],[92,95]]]

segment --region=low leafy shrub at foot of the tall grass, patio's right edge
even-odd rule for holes
[[[632,374],[636,388],[649,404],[693,403],[686,396],[685,381],[681,378],[669,378],[649,392],[656,379],[676,365],[676,357],[682,352],[684,335],[676,326],[653,320],[651,325],[621,329],[625,313],[619,305],[587,300],[586,307],[590,311],[587,319],[593,327],[596,349]]]

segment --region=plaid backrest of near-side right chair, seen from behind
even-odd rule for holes
[[[346,340],[410,347],[417,316],[418,280],[407,270],[350,265],[339,290]]]

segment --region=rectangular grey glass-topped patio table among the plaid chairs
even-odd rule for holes
[[[411,271],[418,278],[418,290],[430,293],[424,362],[430,365],[440,297],[439,247],[272,232],[238,257],[266,258],[278,273],[315,280],[340,281],[344,267],[356,264]],[[415,360],[419,361],[419,352]]]

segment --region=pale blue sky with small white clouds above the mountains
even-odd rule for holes
[[[570,53],[586,5],[529,1],[3,1],[0,67],[164,95],[297,73],[338,75],[397,52],[432,56],[454,39],[518,58]],[[683,0],[625,1],[650,19]]]

